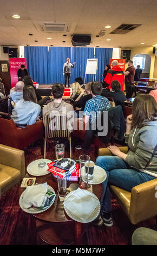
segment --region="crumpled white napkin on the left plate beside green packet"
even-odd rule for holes
[[[45,194],[48,191],[47,182],[43,184],[33,185],[31,187],[27,187],[22,199],[22,204],[25,209],[34,205],[36,207],[40,207],[42,205]]]

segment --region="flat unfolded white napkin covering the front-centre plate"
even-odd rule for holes
[[[64,206],[68,208],[72,215],[80,218],[83,222],[86,222],[93,214],[97,205],[99,205],[99,200],[89,195],[87,190],[81,190],[79,187],[74,194],[64,200]]]

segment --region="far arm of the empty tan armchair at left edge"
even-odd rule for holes
[[[25,175],[24,151],[0,144],[0,163],[20,170]]]

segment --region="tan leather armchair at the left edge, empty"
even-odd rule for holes
[[[25,176],[24,151],[0,144],[1,195]]]

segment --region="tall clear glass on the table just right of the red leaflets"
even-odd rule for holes
[[[79,157],[80,159],[80,183],[79,187],[82,188],[83,190],[87,190],[88,188],[88,172],[89,172],[89,161],[90,161],[90,156],[88,155],[81,155]],[[87,167],[85,167],[87,166]],[[86,168],[87,168],[87,173],[86,173]]]

